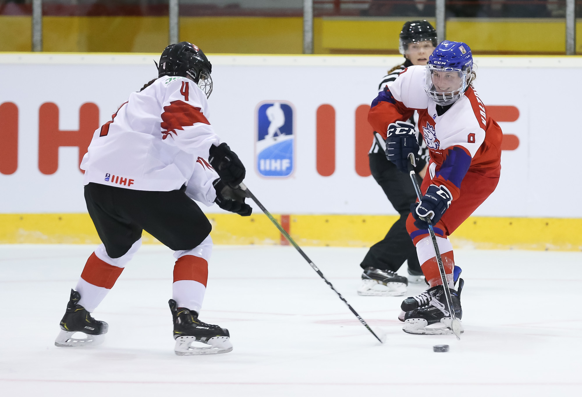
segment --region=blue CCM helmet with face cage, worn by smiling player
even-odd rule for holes
[[[424,90],[438,105],[458,100],[473,79],[473,55],[464,42],[445,40],[428,58]]]

